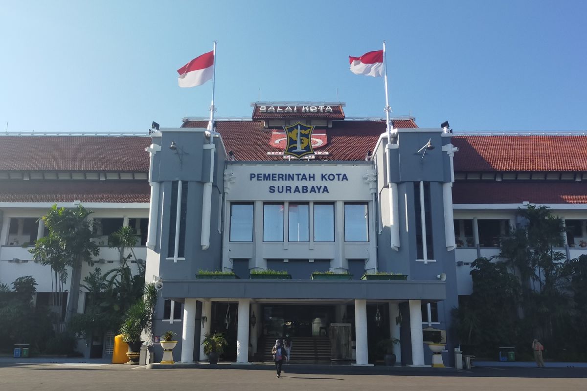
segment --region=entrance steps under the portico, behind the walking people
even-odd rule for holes
[[[258,345],[258,359],[273,361],[271,348],[276,338],[262,338]],[[292,338],[292,363],[326,363],[330,362],[330,338],[326,336],[308,336]]]

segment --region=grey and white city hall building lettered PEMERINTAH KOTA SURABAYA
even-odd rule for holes
[[[292,362],[369,365],[378,341],[398,338],[399,363],[430,365],[440,341],[452,365],[470,263],[499,253],[519,207],[549,206],[567,256],[585,252],[587,164],[573,152],[585,135],[458,135],[403,117],[388,139],[384,120],[346,118],[340,102],[252,107],[217,134],[185,118],[150,135],[1,136],[0,282],[34,276],[48,305],[47,270],[22,243],[43,235],[53,203],[82,203],[101,222],[103,270],[119,259],[107,235],[136,230],[146,280],[163,283],[154,334],[177,332],[176,361],[203,361],[200,341],[218,331],[239,363],[271,361],[289,334]],[[235,276],[203,276],[213,270]],[[254,278],[263,270],[291,279]],[[362,279],[381,272],[404,277]],[[112,354],[114,334],[86,356]]]

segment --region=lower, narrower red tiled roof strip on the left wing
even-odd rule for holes
[[[147,181],[2,181],[0,202],[149,202]]]

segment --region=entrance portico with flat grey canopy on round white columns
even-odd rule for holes
[[[292,297],[294,293],[296,297]],[[195,297],[185,298],[186,294]],[[241,295],[240,298],[236,298],[238,294]],[[351,294],[359,298],[349,298]],[[413,298],[407,298],[406,294],[412,294]],[[348,324],[355,329],[353,333],[356,351],[353,360],[355,365],[369,365],[367,328],[368,324],[373,325],[374,320],[367,318],[367,307],[372,306],[372,315],[376,305],[378,313],[381,307],[383,314],[386,314],[383,327],[383,329],[387,328],[388,337],[386,338],[389,336],[399,338],[399,325],[396,325],[395,329],[392,325],[396,323],[395,319],[398,316],[398,303],[407,301],[410,316],[406,317],[408,319],[404,322],[409,322],[406,326],[410,328],[411,334],[412,362],[410,364],[423,365],[424,345],[420,300],[433,300],[431,297],[438,298],[443,294],[444,283],[440,281],[345,281],[343,283],[304,280],[279,282],[198,280],[197,283],[195,281],[187,283],[185,280],[166,281],[166,297],[174,300],[184,299],[184,319],[195,319],[197,305],[194,302],[203,302],[200,332],[196,333],[195,327],[192,327],[189,321],[184,322],[181,346],[183,362],[193,361],[193,346],[197,334],[200,334],[201,344],[204,334],[210,331],[226,331],[227,334],[233,335],[232,338],[236,339],[235,362],[248,363],[249,357],[252,357],[257,350],[258,341],[269,341],[267,343],[272,344],[276,338],[282,338],[286,333],[294,338],[312,336],[330,338],[332,324]],[[215,296],[205,297],[212,295]],[[249,297],[242,297],[243,295]],[[332,298],[318,299],[316,297]],[[347,307],[348,311],[346,311]],[[392,308],[394,311],[389,311],[385,307]],[[281,315],[275,312],[279,308],[282,308]],[[256,314],[255,326],[252,327],[254,313]],[[378,323],[377,326],[381,325]],[[251,341],[250,346],[249,341]],[[350,336],[348,342],[352,344]],[[406,342],[406,347],[410,345]],[[201,351],[200,359],[204,358]]]

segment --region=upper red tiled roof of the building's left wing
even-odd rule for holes
[[[0,171],[149,171],[150,137],[2,136]]]

